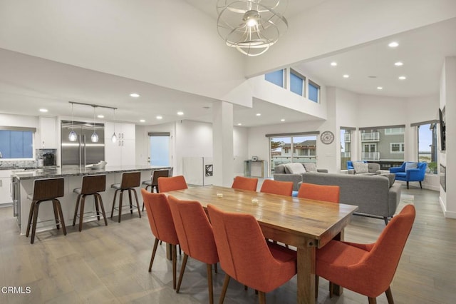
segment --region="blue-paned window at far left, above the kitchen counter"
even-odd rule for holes
[[[0,128],[0,158],[33,158],[33,130]]]

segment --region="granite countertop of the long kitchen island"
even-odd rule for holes
[[[149,171],[168,169],[170,167],[162,166],[106,166],[104,169],[90,168],[38,168],[34,170],[17,169],[12,170],[11,176],[19,180],[36,179],[36,178],[58,178],[68,176],[88,176],[103,173],[123,173],[133,171]]]

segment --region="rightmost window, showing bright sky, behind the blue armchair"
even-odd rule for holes
[[[418,133],[418,161],[427,163],[427,173],[437,174],[437,122],[420,124]]]

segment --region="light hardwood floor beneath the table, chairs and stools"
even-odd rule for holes
[[[395,303],[454,303],[456,298],[456,220],[446,219],[438,193],[403,186],[403,198],[415,204],[417,217],[391,285]],[[89,203],[89,202],[88,202]],[[0,208],[0,303],[208,303],[206,265],[189,259],[179,294],[172,289],[171,263],[165,244],[147,272],[153,238],[147,217],[125,215],[61,231],[37,233],[33,245],[19,235],[12,208]],[[383,220],[353,216],[346,240],[370,243],[384,228]],[[178,255],[178,269],[182,256]],[[214,274],[214,300],[224,273]],[[30,293],[2,293],[4,286]],[[266,295],[267,303],[296,303],[296,277]],[[225,303],[257,303],[253,290],[231,280]],[[321,279],[318,303],[368,303],[344,290],[328,297]],[[385,295],[378,303],[387,303]]]

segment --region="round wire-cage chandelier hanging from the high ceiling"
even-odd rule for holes
[[[288,0],[218,0],[217,29],[227,46],[247,56],[264,54],[288,29]]]

